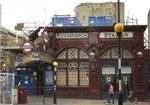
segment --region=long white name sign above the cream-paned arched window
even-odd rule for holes
[[[58,33],[56,38],[60,39],[78,39],[78,38],[88,38],[87,33]]]

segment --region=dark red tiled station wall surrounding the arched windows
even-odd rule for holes
[[[145,68],[144,68],[144,56],[139,58],[137,52],[144,50],[143,33],[146,29],[145,25],[138,26],[125,26],[124,32],[132,33],[129,37],[121,39],[121,47],[131,53],[132,59],[130,63],[133,71],[133,88],[135,96],[141,100],[145,98]],[[113,27],[48,27],[47,28],[51,36],[51,44],[55,51],[55,57],[59,54],[62,49],[68,46],[76,46],[84,49],[87,54],[94,51],[96,54],[94,58],[89,59],[89,87],[58,87],[58,94],[64,97],[80,97],[80,98],[101,98],[101,66],[102,59],[100,56],[104,51],[109,48],[118,47],[118,41],[114,36],[115,33]],[[100,33],[106,32],[100,37]],[[78,39],[61,39],[58,37],[58,33],[87,33],[87,38]],[[113,33],[113,34],[110,34]],[[34,33],[35,34],[35,33]],[[124,33],[123,33],[124,34]],[[133,36],[132,36],[133,35]],[[57,37],[56,37],[57,36]],[[123,59],[128,60],[128,59]],[[108,61],[115,62],[117,58],[108,59]],[[140,77],[140,78],[139,78]]]

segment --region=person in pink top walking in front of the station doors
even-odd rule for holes
[[[109,82],[108,84],[108,104],[110,103],[110,101],[112,100],[112,103],[114,104],[114,86],[112,84],[112,82]]]

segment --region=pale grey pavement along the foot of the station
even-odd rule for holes
[[[107,104],[107,100],[99,99],[72,99],[72,98],[57,98],[57,104],[53,104],[53,97],[43,96],[28,96],[26,104],[14,105],[118,105],[118,101],[115,100],[115,104]],[[135,105],[133,102],[126,101],[123,105]],[[150,105],[150,100],[140,101],[136,105]]]

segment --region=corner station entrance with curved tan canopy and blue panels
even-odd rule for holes
[[[35,56],[36,55],[36,56]],[[16,85],[25,88],[28,95],[43,95],[52,90],[53,59],[45,54],[28,54],[16,65]],[[17,63],[20,63],[17,62]]]

